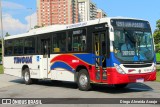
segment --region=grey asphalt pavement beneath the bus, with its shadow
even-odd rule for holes
[[[75,83],[52,83],[51,81],[40,80],[37,84],[25,85],[21,78],[1,74],[0,98],[160,98],[160,83],[134,83],[129,84],[125,89],[114,89],[107,85],[94,85],[91,91],[80,91]],[[3,105],[0,105],[0,107],[1,106]],[[37,107],[36,105],[25,106]],[[58,106],[60,105],[57,105],[56,107]],[[75,105],[72,104],[68,107],[72,106]],[[90,105],[86,106],[88,107]],[[96,105],[92,105],[92,107],[94,106]],[[102,106],[104,105],[101,105],[100,107]],[[151,105],[144,105],[144,107],[150,106]],[[65,107],[67,106],[65,105]],[[83,107],[85,106],[83,105]],[[132,105],[130,105],[130,107],[132,107]]]

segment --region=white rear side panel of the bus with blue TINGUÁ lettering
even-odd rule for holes
[[[22,67],[27,65],[30,70],[31,78],[40,77],[40,62],[37,56],[11,56],[4,57],[4,73],[22,77]]]

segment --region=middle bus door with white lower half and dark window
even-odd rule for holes
[[[41,39],[41,53],[43,55],[41,61],[42,77],[48,78],[49,73],[49,58],[50,58],[50,39]]]

